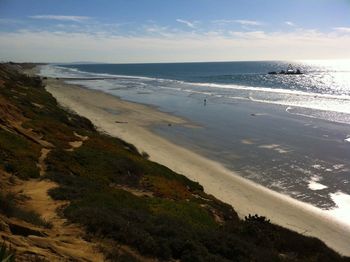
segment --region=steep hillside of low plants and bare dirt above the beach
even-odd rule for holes
[[[61,108],[33,65],[0,65],[0,239],[18,261],[350,261]]]

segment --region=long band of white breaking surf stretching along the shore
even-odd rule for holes
[[[106,74],[106,73],[89,73],[83,72],[76,68],[67,68],[62,66],[48,65],[42,67],[42,75],[52,76],[52,77],[76,77],[76,78],[112,78],[112,79],[133,79],[136,84],[141,84],[142,82],[149,82],[151,86],[156,86],[157,88],[167,88],[167,87],[177,87],[184,92],[192,92],[203,95],[217,96],[219,95],[223,98],[228,99],[249,99],[253,102],[268,103],[268,104],[278,104],[287,106],[287,112],[291,112],[291,107],[315,109],[324,112],[335,112],[335,113],[345,113],[350,115],[350,96],[347,95],[331,95],[331,94],[317,94],[308,93],[305,91],[298,90],[287,90],[281,88],[266,88],[266,87],[252,87],[252,86],[241,86],[234,84],[217,84],[217,83],[192,83],[184,82],[180,80],[154,78],[154,77],[144,77],[144,76],[130,76],[130,75],[118,75],[118,74]],[[159,82],[151,83],[151,81]],[[223,90],[233,90],[233,92],[227,92]],[[219,91],[222,90],[222,91]],[[323,118],[327,120],[335,119],[334,117],[322,117],[313,116],[309,113],[293,113],[296,115]],[[349,119],[344,121],[334,120],[335,122],[348,123]],[[348,141],[349,142],[349,141]]]

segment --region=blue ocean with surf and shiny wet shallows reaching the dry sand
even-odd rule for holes
[[[267,74],[289,64],[303,74]],[[348,60],[65,64],[41,75],[183,117],[194,127],[151,128],[350,224]]]

